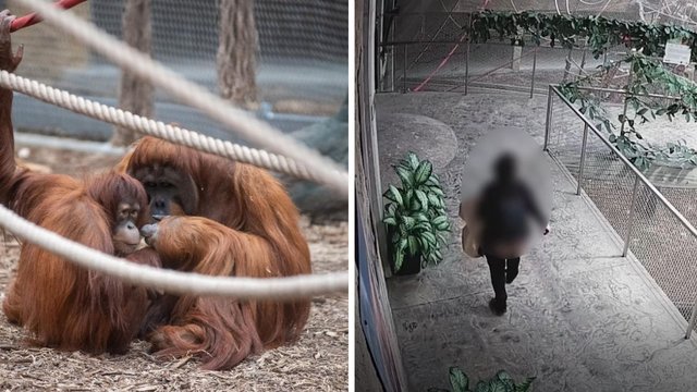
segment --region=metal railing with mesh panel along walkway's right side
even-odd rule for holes
[[[549,87],[543,149],[574,176],[576,194],[583,191],[617,232],[622,256],[631,252],[689,320],[689,339],[697,321],[695,226],[557,86]]]

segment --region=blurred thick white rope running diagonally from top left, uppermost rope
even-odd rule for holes
[[[205,88],[186,81],[149,57],[98,29],[91,23],[41,0],[19,0],[19,2],[35,10],[44,17],[45,23],[70,34],[122,69],[169,91],[182,102],[201,110],[247,140],[292,158],[306,168],[311,168],[317,179],[348,198],[348,173],[340,169],[335,162],[303,146],[292,137],[283,135],[269,124],[232,107]]]

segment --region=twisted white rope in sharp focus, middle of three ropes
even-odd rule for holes
[[[155,121],[125,110],[95,102],[37,81],[17,76],[8,71],[0,71],[0,86],[75,113],[127,127],[143,134],[157,136],[199,151],[215,154],[279,173],[291,174],[303,180],[319,181],[313,171],[283,156],[201,135],[179,126],[168,125],[161,121]]]

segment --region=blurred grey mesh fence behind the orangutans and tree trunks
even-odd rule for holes
[[[122,38],[125,1],[89,0],[70,12]],[[213,93],[219,90],[220,5],[220,0],[150,0],[151,56]],[[28,12],[11,0],[0,1],[0,7],[17,15]],[[286,132],[334,115],[347,97],[348,2],[257,0],[254,20],[260,105],[250,109],[274,113],[271,123]],[[25,45],[17,74],[117,106],[121,70],[99,54],[45,23],[14,33],[12,38],[13,44]],[[228,135],[159,90],[154,117],[217,137]],[[112,131],[109,125],[23,97],[15,101],[15,118],[19,128],[33,132],[107,139]]]

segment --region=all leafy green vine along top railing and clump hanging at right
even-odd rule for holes
[[[683,115],[685,121],[697,121],[697,85],[667,71],[660,61],[650,59],[662,57],[665,42],[669,40],[678,40],[689,46],[692,57],[697,59],[697,33],[676,25],[647,24],[603,16],[489,10],[473,14],[469,28],[472,41],[486,42],[492,38],[492,32],[498,34],[499,39],[510,38],[512,45],[518,46],[525,45],[526,36],[530,36],[533,42],[538,46],[542,38],[546,38],[551,47],[561,45],[570,49],[578,46],[579,39],[586,39],[587,48],[596,59],[620,45],[635,49],[636,52],[625,59],[600,68],[601,75],[607,75],[622,64],[628,63],[632,68],[633,76],[626,86],[626,100],[634,115],[619,115],[619,133],[607,111],[600,106],[599,98],[578,88],[592,85],[598,74],[566,83],[560,86],[560,91],[572,103],[578,103],[580,112],[595,121],[599,130],[604,128],[609,133],[610,142],[638,169],[647,170],[657,161],[680,167],[697,166],[697,150],[687,147],[684,142],[657,147],[644,142],[644,137],[635,127],[650,121],[649,117],[656,119],[665,115],[672,121],[675,117]],[[650,93],[647,86],[661,86],[667,95],[676,98],[668,105],[657,106],[646,98]]]

